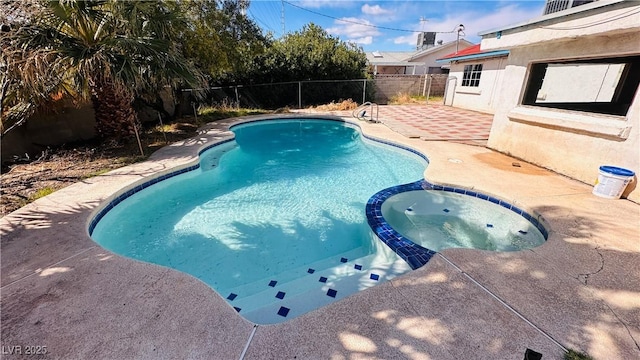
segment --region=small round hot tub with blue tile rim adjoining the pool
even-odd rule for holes
[[[539,216],[476,191],[419,181],[385,189],[367,203],[374,232],[413,268],[438,251],[520,251],[548,236]]]

